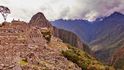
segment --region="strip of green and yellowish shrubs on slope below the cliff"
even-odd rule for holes
[[[62,51],[64,57],[76,63],[82,70],[115,70],[113,67],[104,65],[86,52],[68,45],[68,50]]]

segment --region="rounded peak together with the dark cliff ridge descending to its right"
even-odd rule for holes
[[[47,22],[44,22],[44,21],[47,21]],[[75,47],[78,47],[80,49],[86,50],[86,52],[90,53],[89,47],[88,46],[84,47],[83,41],[81,41],[80,38],[75,33],[71,32],[71,31],[59,29],[59,28],[56,28],[56,27],[52,26],[51,23],[45,18],[45,16],[41,12],[38,12],[37,14],[35,14],[31,18],[31,20],[29,22],[29,25],[31,25],[31,26],[33,25],[37,28],[48,27],[48,28],[50,28],[52,34],[55,37],[58,37],[58,38],[62,39],[63,42],[69,43],[72,46],[75,46]]]

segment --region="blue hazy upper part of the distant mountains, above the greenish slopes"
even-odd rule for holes
[[[62,29],[67,29],[75,32],[82,40],[89,43],[94,40],[99,30],[109,25],[120,25],[124,22],[124,15],[119,12],[114,12],[108,17],[97,18],[95,21],[88,20],[63,20],[59,19],[52,21],[52,25]],[[97,37],[97,36],[96,36]]]

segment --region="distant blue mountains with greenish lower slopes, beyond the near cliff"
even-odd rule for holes
[[[76,33],[104,62],[111,60],[112,54],[124,47],[124,14],[119,12],[98,18],[93,22],[59,19],[52,21],[52,24]]]

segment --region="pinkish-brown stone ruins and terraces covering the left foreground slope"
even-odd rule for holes
[[[48,44],[42,28],[21,21],[4,24],[0,27],[1,70],[81,70],[61,55],[66,44],[55,37]]]

